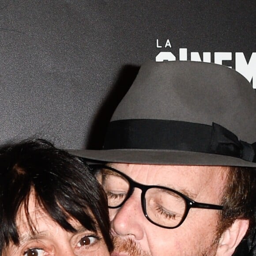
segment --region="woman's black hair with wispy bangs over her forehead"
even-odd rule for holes
[[[24,207],[30,230],[28,201],[36,202],[62,228],[75,232],[69,218],[87,230],[100,230],[113,250],[105,193],[90,169],[79,158],[42,139],[31,139],[0,148],[0,255],[13,242],[19,245],[16,218]]]

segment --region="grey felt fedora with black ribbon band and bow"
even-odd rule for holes
[[[256,94],[235,70],[145,62],[124,96],[102,150],[69,150],[104,162],[256,167]]]

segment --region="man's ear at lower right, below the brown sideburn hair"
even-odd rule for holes
[[[248,219],[236,219],[232,226],[222,233],[216,256],[231,256],[245,236],[249,227]]]

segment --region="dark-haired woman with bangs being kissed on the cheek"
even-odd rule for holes
[[[105,193],[78,158],[45,140],[0,149],[0,255],[109,255]]]

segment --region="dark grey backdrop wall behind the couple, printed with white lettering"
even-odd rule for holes
[[[233,68],[241,53],[256,88],[255,10],[255,0],[1,0],[0,143],[99,147],[139,65],[160,52],[212,62],[222,52],[216,61]]]

